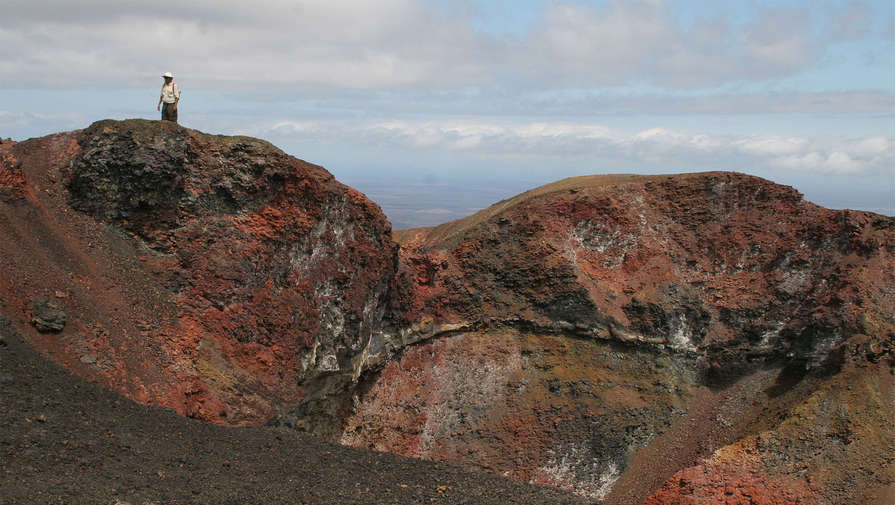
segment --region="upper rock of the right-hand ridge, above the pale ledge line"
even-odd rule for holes
[[[851,335],[891,331],[877,273],[893,223],[739,174],[594,176],[399,237],[412,320],[694,353],[724,380],[769,358],[816,367]]]

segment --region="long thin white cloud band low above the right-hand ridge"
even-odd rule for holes
[[[281,122],[243,133],[344,145],[463,153],[482,158],[610,160],[688,171],[783,169],[895,175],[895,138],[731,137],[667,127],[626,131],[602,124],[491,120]]]

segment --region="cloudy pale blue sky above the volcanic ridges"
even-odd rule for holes
[[[418,210],[453,218],[570,175],[736,170],[895,215],[893,5],[3,0],[0,136],[156,118],[172,71],[185,126],[270,140],[387,213],[402,183],[451,181]]]

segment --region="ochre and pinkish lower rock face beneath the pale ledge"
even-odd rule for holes
[[[363,395],[344,444],[451,461],[603,498],[686,408],[686,357],[503,328],[408,349]]]

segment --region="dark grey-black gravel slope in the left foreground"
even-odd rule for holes
[[[229,428],[73,377],[0,317],[0,505],[573,505],[587,500],[282,428]]]

